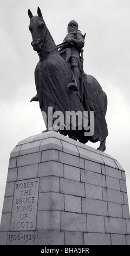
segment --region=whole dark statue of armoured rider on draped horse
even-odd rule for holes
[[[66,120],[63,129],[59,126],[58,132],[69,136],[81,143],[98,142],[98,150],[105,151],[106,137],[108,136],[107,123],[105,119],[107,111],[107,95],[103,92],[99,82],[91,75],[83,71],[83,46],[85,35],[78,29],[76,21],[68,24],[68,34],[63,42],[56,46],[47,26],[43,20],[40,8],[37,9],[38,16],[33,16],[30,9],[29,30],[32,35],[31,45],[37,51],[40,58],[35,69],[35,84],[37,94],[31,101],[39,101],[40,109],[47,114],[48,108],[66,113],[88,113],[88,124],[90,124],[90,113],[94,113],[94,132],[85,136],[85,127],[67,130]],[[55,121],[55,115],[54,119]],[[49,130],[48,122],[46,122]]]

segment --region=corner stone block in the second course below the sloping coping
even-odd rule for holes
[[[38,176],[59,176],[63,177],[63,163],[50,161],[39,164]]]

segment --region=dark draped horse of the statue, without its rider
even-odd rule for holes
[[[53,113],[60,111],[67,112],[80,111],[88,113],[94,112],[94,132],[93,135],[85,136],[85,129],[66,129],[64,120],[64,130],[59,132],[69,136],[81,143],[98,142],[98,150],[105,151],[106,137],[108,136],[107,123],[105,119],[107,111],[107,95],[103,92],[99,82],[91,75],[86,75],[83,71],[82,76],[82,97],[81,92],[69,90],[67,85],[72,81],[72,70],[69,62],[62,57],[57,49],[55,42],[43,20],[40,8],[37,9],[38,16],[33,16],[28,10],[30,17],[29,30],[32,35],[31,45],[39,55],[39,62],[35,69],[35,84],[38,101],[42,112],[47,113],[48,107],[53,109]],[[55,118],[54,118],[55,120]],[[54,121],[53,120],[53,121]],[[71,126],[70,126],[71,128]],[[48,131],[48,126],[47,130]]]

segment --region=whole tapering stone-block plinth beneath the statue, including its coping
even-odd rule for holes
[[[2,245],[129,245],[125,170],[112,156],[49,131],[10,154]]]

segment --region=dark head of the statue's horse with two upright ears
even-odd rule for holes
[[[43,44],[46,41],[47,27],[43,20],[40,8],[37,9],[38,16],[33,16],[30,9],[28,10],[28,15],[30,17],[29,30],[32,35],[31,45],[34,51],[37,53],[42,52]]]

